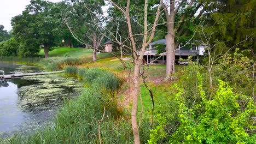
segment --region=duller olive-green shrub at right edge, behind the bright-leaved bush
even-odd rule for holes
[[[255,63],[246,57],[248,53],[249,50],[236,49],[234,53],[219,59],[218,64],[213,67],[214,81],[220,79],[228,82],[231,87],[235,87],[233,89],[235,93],[253,95],[256,83],[253,77]]]

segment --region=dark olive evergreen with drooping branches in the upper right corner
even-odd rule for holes
[[[214,32],[212,39],[223,41],[228,49],[235,46],[241,50],[251,50],[250,57],[255,58],[255,13],[255,0],[218,1],[207,25]]]

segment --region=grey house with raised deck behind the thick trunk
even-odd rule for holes
[[[157,46],[161,46],[162,49],[165,50],[166,47],[166,39],[161,39],[158,41],[154,41],[149,44],[148,49],[144,52],[143,62],[144,63],[154,63],[154,64],[166,64],[166,52],[159,53],[155,48]],[[205,52],[205,47],[203,45],[195,45],[195,44],[180,44],[175,51],[175,59],[178,61],[179,59],[187,59],[189,56],[195,60],[199,58],[199,56],[203,56]]]

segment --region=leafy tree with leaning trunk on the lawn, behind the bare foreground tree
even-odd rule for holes
[[[67,8],[63,11],[63,20],[75,39],[94,49],[92,61],[96,61],[96,49],[99,49],[104,38],[104,1],[67,0],[65,3]]]

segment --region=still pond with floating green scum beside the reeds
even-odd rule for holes
[[[33,65],[1,63],[5,74],[35,73]],[[2,73],[0,74],[2,75]],[[33,130],[53,122],[65,99],[79,94],[80,83],[61,74],[37,75],[1,81],[0,138],[18,131]]]

